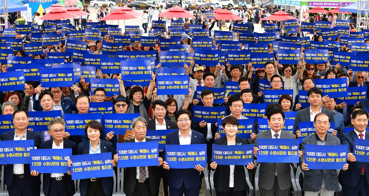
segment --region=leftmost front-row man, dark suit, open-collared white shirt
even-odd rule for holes
[[[2,141],[30,140],[33,139],[35,147],[41,145],[40,136],[32,131],[27,131],[28,112],[18,109],[13,113],[15,130],[1,135]],[[4,167],[4,183],[8,187],[9,196],[40,195],[40,177],[31,175],[30,164],[7,164]]]

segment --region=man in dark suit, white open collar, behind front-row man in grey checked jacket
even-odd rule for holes
[[[307,96],[309,99],[310,107],[297,111],[296,118],[295,118],[295,128],[294,129],[295,129],[295,134],[297,135],[297,137],[299,137],[301,134],[299,131],[299,122],[312,121],[314,120],[315,115],[319,113],[327,114],[329,117],[329,120],[334,122],[333,112],[320,106],[320,103],[322,101],[322,96],[323,96],[323,93],[320,89],[316,87],[310,88],[307,91]],[[336,132],[334,131],[333,133],[337,133],[337,131]]]

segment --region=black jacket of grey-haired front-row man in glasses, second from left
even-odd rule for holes
[[[52,149],[52,142],[54,140],[48,140],[44,143],[41,144],[40,149]],[[71,142],[69,140],[64,139],[63,140],[63,149],[72,149],[72,155],[76,155],[77,154],[77,144],[74,142]],[[50,186],[50,177],[51,174],[44,174],[44,177],[42,179],[42,182],[44,182],[44,195],[48,195],[49,192],[49,186]],[[67,192],[69,193],[69,195],[74,195],[76,193],[76,188],[74,185],[74,181],[72,180],[72,176],[68,175],[67,173],[64,174],[64,180],[65,180],[65,185],[67,188]]]

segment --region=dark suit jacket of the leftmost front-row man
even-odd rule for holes
[[[15,130],[5,132],[1,134],[1,141],[14,140]],[[41,145],[40,136],[32,131],[27,131],[27,140],[33,139],[35,147],[39,148]],[[13,164],[7,164],[4,166],[4,182],[8,187],[11,187],[13,183]],[[30,164],[24,164],[24,180],[27,188],[40,188],[41,177],[31,176]]]

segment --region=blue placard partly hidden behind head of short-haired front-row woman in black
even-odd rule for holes
[[[223,129],[222,119],[218,119],[218,133],[221,137],[225,136],[225,131]],[[252,119],[239,119],[238,120],[238,130],[237,136],[244,139],[250,139],[251,133],[254,132],[254,120]]]

